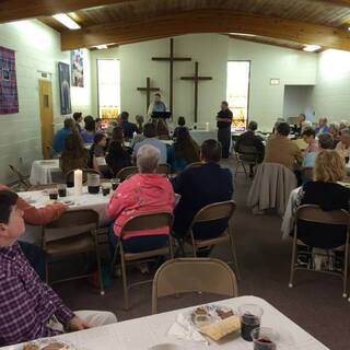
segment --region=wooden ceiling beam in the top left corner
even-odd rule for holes
[[[136,0],[1,0],[0,23]]]

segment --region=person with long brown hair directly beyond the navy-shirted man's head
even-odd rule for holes
[[[187,128],[178,129],[176,141],[167,148],[167,163],[175,173],[179,173],[195,162],[199,162],[199,147]]]

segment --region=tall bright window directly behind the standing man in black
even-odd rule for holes
[[[245,130],[248,118],[250,61],[228,62],[226,98],[233,113],[232,129]]]

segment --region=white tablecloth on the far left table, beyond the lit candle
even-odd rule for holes
[[[52,173],[61,174],[59,160],[34,161],[30,182],[32,185],[46,185],[52,183]]]

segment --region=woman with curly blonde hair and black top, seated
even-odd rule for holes
[[[324,211],[349,211],[350,189],[337,184],[346,174],[343,159],[335,150],[318,153],[314,167],[314,182],[303,185],[295,206],[315,205]],[[296,210],[296,208],[294,208]],[[345,244],[347,228],[300,221],[300,237],[311,246],[331,248]],[[315,234],[311,234],[315,232]]]

